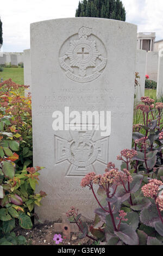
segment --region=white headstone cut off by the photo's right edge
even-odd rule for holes
[[[159,51],[157,97],[163,95],[163,48]]]

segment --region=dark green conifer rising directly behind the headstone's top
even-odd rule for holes
[[[120,0],[79,1],[76,17],[101,17],[126,21],[126,10]]]

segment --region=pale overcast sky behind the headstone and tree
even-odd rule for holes
[[[21,52],[30,48],[30,23],[74,17],[79,0],[1,0],[3,22],[2,51]],[[122,0],[127,22],[138,26],[138,32],[156,32],[163,39],[162,0]]]

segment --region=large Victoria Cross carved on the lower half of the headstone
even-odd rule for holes
[[[55,136],[55,163],[70,163],[66,176],[84,176],[89,172],[96,172],[93,166],[96,161],[108,163],[109,137],[93,141],[95,132],[70,131],[71,141]]]

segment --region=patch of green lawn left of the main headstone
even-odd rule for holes
[[[24,84],[23,70],[23,68],[3,68],[3,71],[0,72],[0,81],[1,78],[3,81],[11,78],[15,83]]]

